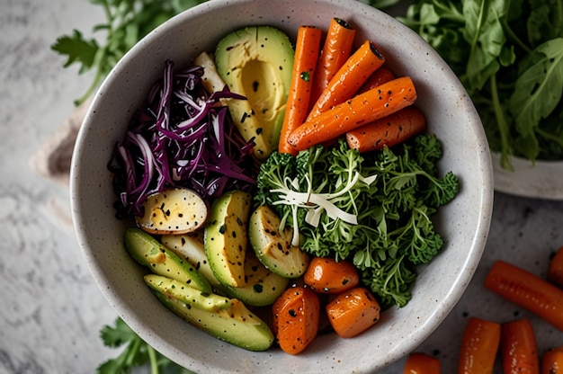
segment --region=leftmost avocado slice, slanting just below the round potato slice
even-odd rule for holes
[[[139,227],[125,231],[125,248],[131,257],[151,272],[170,277],[203,292],[211,293],[210,282],[191,263],[178,257],[169,248]]]

